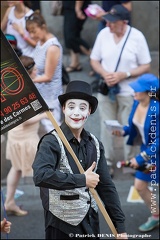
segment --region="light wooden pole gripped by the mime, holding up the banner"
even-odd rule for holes
[[[65,147],[67,148],[68,152],[71,154],[71,156],[73,157],[74,161],[77,164],[77,167],[80,171],[80,173],[84,173],[84,169],[82,168],[82,165],[80,164],[77,156],[75,155],[73,149],[71,148],[69,142],[67,141],[64,133],[62,132],[61,128],[59,127],[59,125],[57,124],[53,114],[51,111],[46,111],[46,114],[48,116],[48,118],[50,119],[50,121],[52,122],[54,128],[56,129],[60,139],[62,140],[62,142],[64,143]],[[115,238],[117,236],[117,230],[115,229],[115,226],[112,223],[112,220],[110,219],[98,193],[96,192],[96,190],[94,188],[89,188],[90,192],[92,193],[93,197],[95,198],[97,205],[99,207],[99,209],[101,210],[102,215],[104,216],[106,222],[108,223],[108,226],[110,227],[112,233],[114,234]]]

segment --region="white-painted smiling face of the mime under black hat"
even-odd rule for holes
[[[65,122],[72,129],[80,129],[90,115],[89,103],[82,99],[69,99],[63,109]]]

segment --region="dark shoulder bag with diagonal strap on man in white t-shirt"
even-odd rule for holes
[[[123,44],[123,47],[122,47],[122,49],[121,49],[121,52],[120,52],[120,55],[119,55],[119,58],[118,58],[118,61],[117,61],[117,65],[116,65],[116,68],[115,68],[114,72],[117,71],[117,68],[118,68],[118,65],[119,65],[119,62],[120,62],[120,59],[121,59],[121,55],[122,55],[124,46],[125,46],[125,44],[126,44],[126,42],[127,42],[127,39],[128,39],[128,37],[129,37],[130,32],[131,32],[131,27],[130,27],[130,29],[129,29],[129,32],[128,32],[128,35],[127,35],[127,37],[126,37],[126,40],[125,40],[125,42],[124,42],[124,44]],[[104,79],[101,78],[101,79],[99,80],[98,92],[100,92],[100,93],[103,94],[103,95],[108,95],[108,94],[109,94],[109,91],[112,91],[113,94],[117,94],[117,93],[119,92],[119,85],[116,84],[116,85],[113,86],[113,87],[108,87],[108,85],[105,83]]]

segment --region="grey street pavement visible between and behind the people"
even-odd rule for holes
[[[84,80],[91,83],[95,76],[90,77],[89,71],[89,59],[85,56],[81,56],[81,63],[83,71],[70,73],[71,80]],[[64,65],[69,65],[69,59],[64,56]],[[95,93],[96,96],[96,93]],[[127,116],[126,116],[127,117]],[[91,115],[86,123],[86,129],[95,134],[100,138],[100,119],[99,112],[97,111]],[[40,136],[43,135],[43,128],[40,128]],[[124,169],[116,168],[116,162],[123,160],[123,148],[122,139],[114,139],[114,151],[115,151],[115,162],[114,162],[114,177],[113,182],[117,188],[122,209],[126,216],[126,231],[128,239],[159,239],[159,229],[156,228],[148,233],[141,233],[138,231],[138,226],[144,223],[150,216],[148,208],[143,202],[129,202],[128,196],[130,187],[134,182],[134,173],[124,171]],[[1,179],[1,190],[3,196],[6,192],[6,179]],[[29,214],[24,217],[8,216],[8,220],[12,222],[11,233],[1,234],[1,239],[45,239],[44,230],[44,216],[43,208],[39,196],[39,188],[34,186],[32,177],[21,179],[18,190],[24,192],[23,195],[19,196],[16,201],[17,204],[22,205],[25,210],[28,210]],[[158,189],[157,189],[158,193]],[[156,201],[159,201],[158,194]],[[108,227],[107,222],[104,220],[102,213],[100,213],[100,227],[101,227],[101,239],[114,239],[112,232]],[[1,201],[1,219],[3,218],[5,211],[3,209],[3,201]],[[74,239],[74,238],[73,238]],[[84,238],[85,239],[85,238]]]

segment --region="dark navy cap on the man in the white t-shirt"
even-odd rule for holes
[[[105,21],[116,22],[118,20],[129,20],[130,12],[121,4],[114,5],[111,10],[103,16]]]

